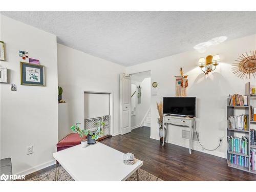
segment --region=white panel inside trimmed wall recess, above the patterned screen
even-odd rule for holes
[[[110,95],[84,93],[84,119],[110,114]]]

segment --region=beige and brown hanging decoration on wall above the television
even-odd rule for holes
[[[179,76],[175,76],[176,78],[176,97],[185,97],[187,95],[186,88],[188,86],[188,75],[183,75],[182,68],[180,68]]]

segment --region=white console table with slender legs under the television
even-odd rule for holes
[[[163,127],[164,127],[164,125],[166,125],[166,142],[168,141],[169,124],[189,127],[189,154],[191,154],[191,147],[192,147],[193,135],[194,135],[194,120],[193,120],[193,118],[164,114],[163,115]],[[163,134],[163,145],[164,145],[164,134]]]

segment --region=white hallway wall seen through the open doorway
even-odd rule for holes
[[[151,78],[144,78],[141,82],[133,80],[132,75],[132,83],[136,84],[136,98],[138,97],[138,86],[142,87],[141,89],[141,103],[138,103],[138,98],[136,99],[136,115],[132,116],[132,127],[137,127],[141,125],[141,121],[143,120],[146,112],[150,108],[151,105]]]

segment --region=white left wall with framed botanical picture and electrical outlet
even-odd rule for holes
[[[1,37],[6,43],[9,82],[1,90],[1,158],[11,157],[13,174],[32,173],[52,164],[58,139],[56,36],[1,15]],[[20,85],[19,50],[46,66],[46,87]],[[28,59],[25,61],[27,62]],[[27,146],[34,153],[26,155]]]

